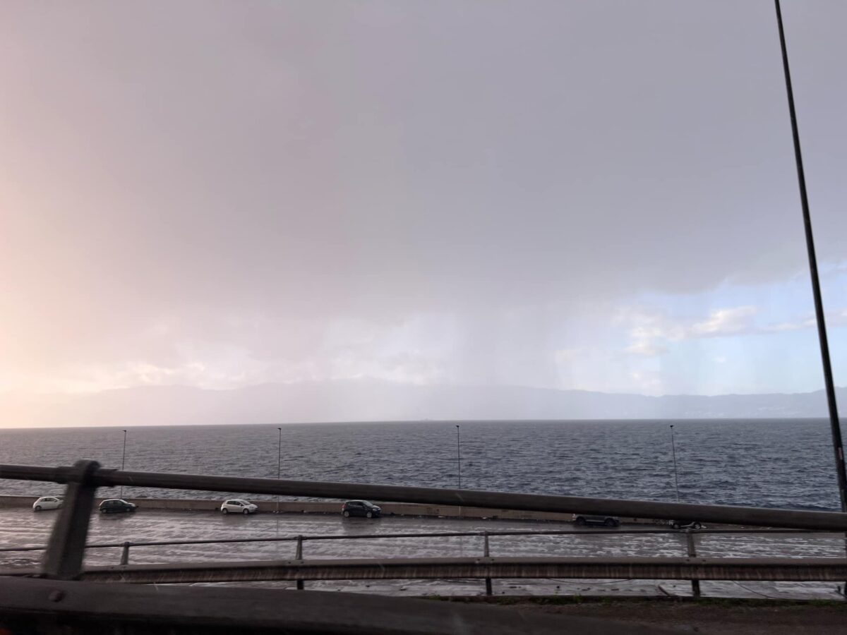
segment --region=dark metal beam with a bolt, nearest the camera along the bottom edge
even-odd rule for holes
[[[44,624],[74,632],[288,632],[395,635],[648,635],[659,627],[588,617],[545,615],[507,607],[429,599],[279,588],[144,587],[57,580],[0,579],[0,613],[45,632]],[[47,616],[47,620],[45,620]],[[64,632],[64,631],[63,631]]]

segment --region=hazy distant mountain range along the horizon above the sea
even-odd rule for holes
[[[837,389],[847,404],[847,388]],[[847,406],[844,406],[847,408]],[[377,380],[208,390],[147,386],[78,395],[0,395],[0,428],[420,421],[826,417],[822,390],[792,395],[622,395]]]

